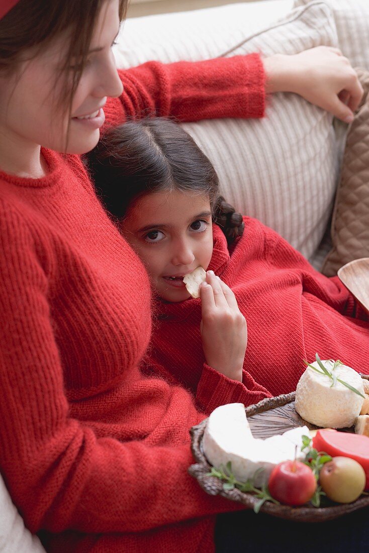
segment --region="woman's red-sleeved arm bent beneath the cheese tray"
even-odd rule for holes
[[[127,377],[121,441],[71,416],[47,256],[8,203],[0,221],[0,469],[28,528],[136,532],[232,510],[188,475],[188,431],[203,416],[184,389]],[[129,424],[132,404],[140,419]]]

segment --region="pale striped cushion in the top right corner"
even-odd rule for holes
[[[333,12],[342,53],[351,64],[369,69],[369,1],[324,0]],[[309,0],[295,0],[304,6]]]

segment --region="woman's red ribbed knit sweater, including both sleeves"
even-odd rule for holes
[[[263,114],[256,55],[145,64],[122,80],[110,124]],[[49,551],[212,551],[213,515],[235,506],[187,473],[203,416],[191,396],[138,370],[147,274],[81,159],[43,154],[44,178],[0,173],[1,473]]]

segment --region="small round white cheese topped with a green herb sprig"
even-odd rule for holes
[[[334,365],[332,361],[322,361],[322,363],[332,372]],[[321,371],[316,361],[311,364]],[[334,374],[363,394],[362,378],[354,369],[339,364],[334,369]],[[304,420],[324,428],[352,426],[360,414],[362,402],[363,398],[344,384],[336,381],[332,386],[332,379],[328,375],[320,374],[310,367],[306,368],[296,388],[297,413]]]

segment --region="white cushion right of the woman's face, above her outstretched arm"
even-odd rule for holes
[[[264,0],[129,18],[116,39],[117,66],[215,58],[288,13],[292,5],[293,0]]]

